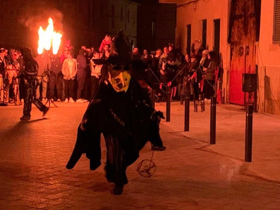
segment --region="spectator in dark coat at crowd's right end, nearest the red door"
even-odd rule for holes
[[[209,59],[209,66],[203,67],[203,71],[206,73],[205,76],[205,86],[204,86],[204,95],[205,98],[211,99],[212,96],[214,96],[214,84],[215,84],[215,71],[218,66],[218,60],[216,58],[216,54],[213,51],[210,51],[208,53],[208,59]]]

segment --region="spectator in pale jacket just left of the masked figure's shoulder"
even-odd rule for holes
[[[93,52],[92,59],[100,59],[100,54],[97,51]],[[93,60],[90,60],[90,70],[91,70],[91,84],[92,84],[92,96],[94,95],[98,82],[101,79],[101,68],[103,65],[97,65]]]

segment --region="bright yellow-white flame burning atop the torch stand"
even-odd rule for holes
[[[62,34],[53,31],[53,19],[49,18],[49,25],[45,31],[42,26],[40,26],[38,34],[38,53],[42,54],[44,49],[50,50],[51,46],[53,45],[53,54],[57,54]]]

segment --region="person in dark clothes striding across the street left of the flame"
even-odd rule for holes
[[[23,79],[25,83],[25,99],[23,106],[23,116],[21,120],[29,120],[31,115],[32,103],[43,112],[43,116],[49,110],[38,98],[36,98],[36,89],[39,84],[37,79],[38,74],[38,63],[33,58],[31,49],[25,47],[22,51],[24,69],[23,69]]]

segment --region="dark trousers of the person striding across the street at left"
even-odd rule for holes
[[[31,116],[31,107],[32,103],[43,112],[47,107],[38,99],[36,98],[36,89],[37,89],[37,81],[36,80],[26,80],[25,82],[25,99],[24,99],[24,106],[23,106],[23,115]]]

